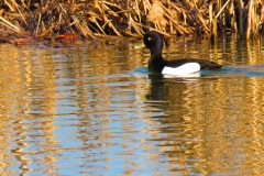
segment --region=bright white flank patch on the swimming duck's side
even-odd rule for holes
[[[164,67],[162,74],[165,75],[177,75],[177,76],[186,76],[189,74],[194,74],[200,70],[200,65],[198,63],[186,63],[179,67]]]

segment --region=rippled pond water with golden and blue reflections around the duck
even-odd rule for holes
[[[263,175],[262,40],[168,42],[226,66],[163,77],[128,38],[0,45],[2,175]]]

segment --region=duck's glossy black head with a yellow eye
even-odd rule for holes
[[[164,36],[156,31],[148,31],[144,34],[143,41],[152,55],[162,54]]]

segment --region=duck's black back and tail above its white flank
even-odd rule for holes
[[[215,62],[210,62],[206,59],[196,59],[196,58],[180,58],[180,59],[167,61],[166,66],[179,67],[187,63],[198,63],[201,69],[218,69],[222,67],[221,65]]]

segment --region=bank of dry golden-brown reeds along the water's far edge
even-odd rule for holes
[[[98,35],[263,34],[261,0],[2,0],[0,42]]]

